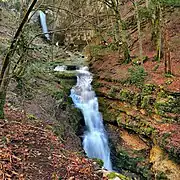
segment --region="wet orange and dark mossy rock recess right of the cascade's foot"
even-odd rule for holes
[[[135,133],[113,125],[107,127],[111,145],[115,149],[115,152],[112,152],[115,168],[122,172],[131,172],[129,176],[137,179],[151,179],[153,176],[147,156],[150,149],[148,143]]]

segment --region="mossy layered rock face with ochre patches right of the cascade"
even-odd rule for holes
[[[114,80],[113,73],[101,78],[102,73],[91,68],[115,168],[140,179],[178,179],[179,92],[152,83],[135,87]]]

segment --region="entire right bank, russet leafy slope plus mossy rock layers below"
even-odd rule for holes
[[[108,44],[92,46],[90,52],[94,88],[114,150],[114,165],[117,170],[135,173],[137,179],[180,177],[179,8],[168,10],[165,17],[172,75],[164,73],[164,58],[155,60],[148,23],[142,30],[143,55],[147,57],[143,65],[138,65],[137,31],[130,35],[129,64],[123,64],[122,54],[110,51]]]

